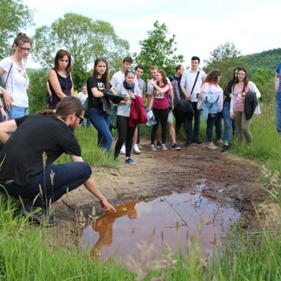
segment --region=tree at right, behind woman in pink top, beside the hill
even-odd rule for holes
[[[236,49],[233,42],[221,44],[210,52],[208,60],[204,60],[205,67],[203,70],[209,73],[213,69],[219,69],[221,71],[220,85],[224,88],[233,77],[234,68],[239,65],[240,54],[241,52]]]

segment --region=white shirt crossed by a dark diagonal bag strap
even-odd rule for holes
[[[197,99],[197,94],[201,93],[201,86],[203,80],[207,77],[206,73],[203,70],[198,70],[200,71],[198,79],[196,81],[194,90],[192,92],[192,97],[191,101],[198,101]],[[185,70],[181,76],[181,86],[184,86],[186,89],[187,94],[190,95],[193,84],[195,82],[196,76],[198,71],[192,71],[191,68]]]

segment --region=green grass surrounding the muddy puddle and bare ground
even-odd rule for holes
[[[253,147],[232,141],[230,152],[261,162],[272,170],[280,170],[281,148],[274,122],[274,104],[263,105],[261,112],[251,124]],[[205,139],[205,122],[201,124],[201,136]],[[149,128],[142,126],[141,131],[149,136]],[[97,133],[93,128],[79,128],[76,135],[85,161],[93,165],[117,166],[112,154],[107,155],[97,148]],[[57,162],[65,161],[69,161],[67,156]],[[281,184],[275,184],[278,193],[280,189]],[[272,194],[272,198],[281,209],[279,195]],[[0,280],[281,280],[280,218],[276,218],[277,226],[272,232],[245,233],[237,224],[228,240],[216,241],[208,263],[201,259],[200,246],[195,239],[190,241],[188,258],[164,251],[162,264],[144,260],[124,267],[113,261],[94,263],[91,255],[81,252],[74,241],[68,243],[72,246],[62,247],[57,242],[55,228],[31,225],[27,218],[19,215],[18,207],[18,201],[0,197]],[[262,225],[261,228],[264,229]],[[143,246],[140,251],[148,250]]]

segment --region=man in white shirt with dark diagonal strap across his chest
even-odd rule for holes
[[[197,110],[198,96],[201,93],[201,86],[203,80],[206,78],[206,73],[199,69],[200,59],[198,57],[191,58],[191,68],[185,70],[181,77],[181,90],[186,99],[192,101],[194,110],[194,129],[192,130],[192,121],[186,121],[186,142],[185,146],[189,146],[192,142],[201,144],[200,131],[200,117],[201,111]],[[197,80],[196,77],[198,76]],[[192,91],[193,89],[193,91]]]

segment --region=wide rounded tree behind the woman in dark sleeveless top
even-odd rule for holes
[[[128,54],[129,43],[120,39],[113,26],[103,20],[68,13],[51,24],[35,30],[34,59],[44,67],[54,64],[56,52],[65,48],[72,56],[75,87],[81,87],[92,71],[94,60],[105,57],[111,69],[119,69],[117,58]]]

